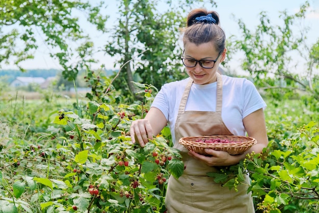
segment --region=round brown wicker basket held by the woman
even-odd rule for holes
[[[234,143],[204,143],[197,142],[198,140],[207,139],[227,139],[234,141]],[[257,143],[253,137],[235,136],[235,135],[212,135],[212,136],[196,136],[196,137],[182,137],[179,144],[186,147],[188,150],[193,150],[199,154],[206,154],[206,148],[214,150],[226,151],[231,155],[242,154]]]

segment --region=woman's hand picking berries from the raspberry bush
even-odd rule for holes
[[[133,143],[136,143],[137,140],[141,147],[144,147],[149,139],[152,140],[153,130],[149,120],[139,119],[132,122],[130,126],[130,137]]]

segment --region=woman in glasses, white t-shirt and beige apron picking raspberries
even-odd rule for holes
[[[247,153],[260,153],[268,145],[263,108],[266,106],[253,83],[245,78],[218,74],[226,57],[225,33],[214,11],[195,9],[183,32],[182,62],[188,79],[165,84],[156,95],[145,119],[132,122],[131,140],[143,147],[169,123],[174,147],[181,151],[184,173],[170,177],[167,212],[254,212],[247,186],[238,192],[214,182],[207,172],[233,165]],[[246,135],[258,142],[246,153],[229,155],[206,149],[207,155],[188,151],[178,143],[181,137],[198,135]],[[249,183],[249,177],[246,177]]]

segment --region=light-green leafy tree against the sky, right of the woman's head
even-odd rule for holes
[[[229,41],[230,52],[238,50],[244,52],[242,68],[250,73],[256,85],[278,99],[287,92],[291,95],[294,91],[301,90],[307,91],[313,98],[319,100],[318,92],[312,86],[317,78],[313,69],[318,66],[319,49],[316,48],[318,44],[308,48],[305,42],[307,29],[302,29],[298,33],[293,30],[294,26],[305,18],[308,8],[309,3],[306,2],[293,15],[287,14],[286,11],[281,12],[283,26],[272,26],[271,19],[265,12],[261,12],[260,24],[255,32],[247,29],[245,23],[239,19],[238,25],[243,39],[232,36]],[[301,74],[291,72],[290,68],[300,63],[291,57],[292,53],[297,53],[307,61],[308,70]],[[307,73],[307,78],[302,75],[303,73]]]

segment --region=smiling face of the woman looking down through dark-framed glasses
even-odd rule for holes
[[[219,52],[215,50],[215,46],[212,42],[202,43],[196,45],[195,43],[188,42],[184,46],[183,58],[194,60],[216,60],[219,56]],[[218,66],[225,59],[226,49],[221,53],[212,68],[203,68],[197,62],[194,67],[187,67],[185,69],[187,74],[194,80],[195,84],[209,84],[217,81]],[[203,62],[203,65],[206,62]]]

